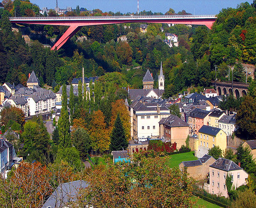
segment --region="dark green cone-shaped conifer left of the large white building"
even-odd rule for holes
[[[110,136],[110,151],[124,150],[128,147],[128,142],[125,138],[124,126],[120,119],[119,113],[117,114],[114,128]]]

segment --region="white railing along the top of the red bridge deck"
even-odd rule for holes
[[[144,16],[58,16],[58,17],[9,17],[10,20],[72,20],[72,19],[170,19],[170,18],[216,18],[210,15],[144,15]]]

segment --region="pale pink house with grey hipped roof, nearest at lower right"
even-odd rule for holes
[[[226,187],[226,177],[228,175],[231,176],[231,182],[235,189],[247,184],[248,173],[232,160],[218,158],[218,160],[209,167],[210,184],[205,184],[204,187],[210,194],[228,197],[228,190]]]

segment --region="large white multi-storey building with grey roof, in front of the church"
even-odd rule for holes
[[[157,103],[142,104],[135,101],[129,106],[131,121],[131,137],[159,136],[159,122],[162,118],[170,116],[170,110]]]

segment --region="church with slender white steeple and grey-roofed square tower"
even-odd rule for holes
[[[128,89],[130,100],[138,100],[141,97],[150,97],[159,99],[164,93],[164,75],[162,62],[160,67],[160,74],[158,76],[158,89],[154,89],[154,79],[149,70],[147,70],[143,78],[143,89]]]

